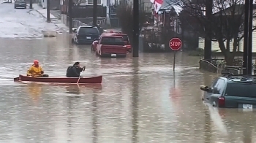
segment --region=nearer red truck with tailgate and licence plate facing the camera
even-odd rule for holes
[[[122,36],[101,36],[94,41],[96,54],[100,57],[126,57],[127,47]]]

